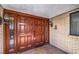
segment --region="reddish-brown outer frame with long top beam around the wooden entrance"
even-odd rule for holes
[[[17,11],[12,11],[12,10],[8,10],[8,9],[4,9],[3,10],[3,16],[4,16],[4,14],[5,13],[12,13],[12,14],[15,14],[15,15],[23,15],[23,16],[26,16],[26,17],[30,17],[30,18],[37,18],[37,19],[44,19],[44,20],[48,20],[48,43],[49,43],[49,19],[48,18],[44,18],[44,17],[40,17],[40,16],[35,16],[35,15],[30,15],[30,14],[26,14],[26,13],[21,13],[21,12],[17,12]],[[17,17],[15,17],[15,19],[17,19]],[[3,18],[3,20],[4,20],[4,18]],[[16,22],[16,20],[15,20],[15,22]],[[14,39],[15,39],[15,53],[17,52],[17,46],[16,46],[16,23],[15,23],[15,29],[14,29]],[[5,22],[4,22],[4,24],[3,24],[3,36],[4,36],[4,38],[3,38],[3,53],[4,54],[8,54],[8,51],[7,51],[7,48],[8,48],[8,46],[7,46],[7,43],[6,42],[9,42],[9,41],[6,41],[6,31],[5,31]]]

